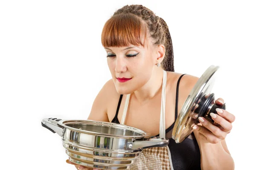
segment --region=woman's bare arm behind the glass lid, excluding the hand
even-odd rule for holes
[[[198,77],[193,77],[191,75],[185,75],[184,77],[186,77],[186,79],[183,80],[183,89],[185,91],[185,96],[182,96],[183,103],[192,88],[195,86],[195,83],[198,81]],[[210,128],[210,125],[209,127],[205,127],[205,123],[203,123],[203,126],[198,125],[198,129],[193,131],[201,152],[201,169],[234,170],[234,161],[233,158],[230,156],[229,150],[227,149],[225,139],[219,139],[220,137],[218,137],[218,135],[216,136],[210,131],[213,128]]]

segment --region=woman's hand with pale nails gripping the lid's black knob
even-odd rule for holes
[[[215,101],[216,105],[223,105],[224,100],[219,98]],[[199,136],[206,139],[207,142],[216,144],[225,139],[227,134],[232,129],[232,123],[235,121],[235,116],[223,109],[216,109],[218,114],[210,113],[212,119],[218,126],[212,125],[207,119],[199,117],[200,124],[194,125],[193,129],[199,132]]]

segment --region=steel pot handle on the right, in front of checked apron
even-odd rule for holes
[[[159,136],[151,136],[150,138],[144,138],[144,140],[135,140],[131,144],[128,144],[129,149],[137,150],[140,148],[149,148],[149,147],[165,147],[169,144],[169,139],[160,139]]]

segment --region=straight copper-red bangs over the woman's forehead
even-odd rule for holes
[[[144,47],[146,37],[146,24],[139,17],[117,14],[105,23],[101,41],[103,47],[124,47],[130,44]]]

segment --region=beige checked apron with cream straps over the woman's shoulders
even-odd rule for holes
[[[160,112],[160,138],[165,138],[165,103],[166,103],[166,71],[163,71],[162,99]],[[126,96],[124,111],[120,124],[124,124],[130,94]],[[151,147],[144,149],[130,170],[173,170],[169,147]]]

